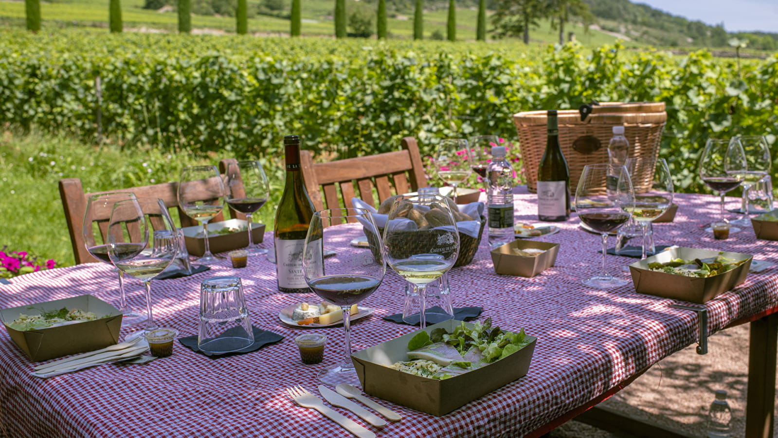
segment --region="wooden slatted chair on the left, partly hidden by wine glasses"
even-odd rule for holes
[[[142,187],[117,188],[114,191],[131,191],[138,198],[160,198],[167,208],[175,208],[178,211],[180,226],[195,226],[199,223],[195,219],[187,216],[183,210],[178,207],[178,183],[154,184]],[[62,207],[65,209],[65,221],[68,223],[68,232],[70,233],[70,243],[73,247],[75,263],[89,263],[98,261],[93,258],[89,251],[86,251],[86,244],[82,232],[84,212],[86,212],[86,202],[89,196],[93,194],[107,193],[105,191],[96,191],[93,193],[84,193],[81,180],[79,178],[65,178],[59,180],[59,194],[62,201]],[[206,198],[203,198],[206,199]],[[175,217],[175,216],[173,216]],[[219,213],[212,222],[224,220],[224,215]],[[107,222],[110,217],[95,218],[100,223],[100,229],[107,228]],[[104,223],[104,224],[103,224]],[[104,233],[104,231],[103,231]],[[105,237],[103,235],[103,237]]]

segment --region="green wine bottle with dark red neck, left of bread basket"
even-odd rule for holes
[[[284,137],[286,185],[279,208],[275,210],[275,272],[279,290],[286,293],[310,292],[303,275],[303,244],[314,216],[300,170],[300,137]]]

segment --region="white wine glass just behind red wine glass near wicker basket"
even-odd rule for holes
[[[664,158],[628,158],[626,168],[635,192],[635,202],[629,205],[629,208],[632,210],[632,219],[640,223],[640,230],[643,233],[641,258],[646,258],[648,227],[672,204],[673,180]]]

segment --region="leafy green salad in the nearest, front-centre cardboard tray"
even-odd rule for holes
[[[531,342],[524,335],[492,328],[492,319],[468,328],[464,322],[454,331],[436,328],[419,331],[408,342],[408,358],[391,365],[394,370],[432,379],[448,379],[476,370],[519,351]]]

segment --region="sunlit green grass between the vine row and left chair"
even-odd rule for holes
[[[44,260],[53,258],[73,265],[68,226],[59,196],[58,180],[80,178],[84,191],[115,190],[177,180],[184,166],[214,164],[226,157],[167,154],[133,146],[95,147],[70,138],[19,134],[5,131],[0,137],[0,174],[4,196],[0,211],[5,221],[0,229],[0,249],[27,251]],[[268,166],[265,166],[268,169]],[[273,196],[254,216],[255,222],[271,224],[280,197],[282,180],[270,176]]]

